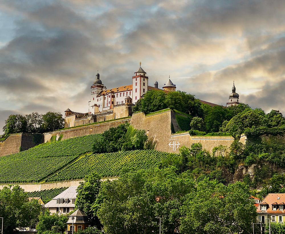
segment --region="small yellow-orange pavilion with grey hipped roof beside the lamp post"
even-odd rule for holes
[[[72,225],[73,231],[77,232],[78,230],[85,230],[86,227],[89,227],[89,221],[86,213],[77,209],[68,217],[67,223],[67,232],[68,234],[72,233]]]

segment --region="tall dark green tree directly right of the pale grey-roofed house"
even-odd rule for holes
[[[100,226],[100,221],[97,218],[97,205],[99,189],[101,186],[101,177],[95,173],[91,173],[77,187],[77,196],[75,200],[75,208],[84,211],[93,225]],[[95,209],[95,211],[94,211]]]

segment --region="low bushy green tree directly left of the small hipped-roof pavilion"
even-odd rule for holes
[[[46,231],[61,231],[64,232],[66,228],[66,222],[68,220],[67,215],[58,215],[57,213],[50,213],[48,209],[39,215],[39,222],[36,225],[36,229],[39,234]]]

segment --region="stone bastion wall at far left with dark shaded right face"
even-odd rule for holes
[[[0,142],[0,157],[13,153],[19,153],[20,149],[27,150],[34,147],[33,135],[19,133],[10,135],[4,142]]]

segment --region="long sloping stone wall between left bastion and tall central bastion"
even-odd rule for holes
[[[76,127],[72,129],[65,129],[62,131],[54,131],[54,132],[48,132],[44,133],[44,142],[50,141],[50,138],[52,136],[60,136],[60,134],[63,135],[62,140],[69,139],[72,137],[80,137],[90,134],[97,134],[97,133],[103,133],[104,131],[110,129],[111,127],[117,127],[118,125],[125,123],[126,121],[130,122],[131,117],[129,119],[120,119],[120,120],[114,120],[107,123],[100,123],[100,124],[94,124],[94,125],[87,125],[87,126],[81,126]]]

